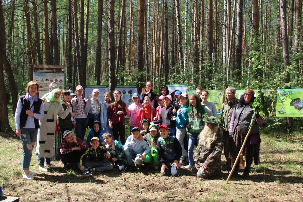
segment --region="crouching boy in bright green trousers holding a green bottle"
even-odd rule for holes
[[[157,141],[158,138],[160,137],[159,131],[158,131],[158,126],[154,123],[152,123],[149,128],[148,128],[149,133],[146,134],[143,139],[147,141],[147,144],[149,148],[151,149],[151,152],[146,154],[145,156],[145,161],[146,163],[154,163],[155,166],[155,172],[158,173],[160,172],[159,170],[159,154],[158,154],[158,146],[157,146]]]

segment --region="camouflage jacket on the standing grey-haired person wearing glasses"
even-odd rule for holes
[[[227,102],[228,100],[225,100],[222,104],[222,117],[223,117],[223,131],[229,131],[230,126],[230,120],[232,113],[235,109],[235,106],[238,104],[238,99],[234,98],[232,101]]]

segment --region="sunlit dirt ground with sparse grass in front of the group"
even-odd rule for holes
[[[0,136],[0,186],[6,196],[20,201],[303,201],[302,135],[282,141],[262,135],[261,164],[252,166],[249,178],[221,176],[205,181],[181,168],[180,177],[161,177],[142,168],[136,173],[93,173],[81,179],[79,172],[38,170],[33,155],[34,180],[22,179],[21,142]],[[222,154],[222,167],[225,157]]]

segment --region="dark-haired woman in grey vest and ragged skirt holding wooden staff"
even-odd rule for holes
[[[239,102],[235,106],[235,109],[231,116],[229,136],[232,138],[230,141],[230,155],[232,161],[235,161],[243,144],[245,136],[248,133],[251,118],[254,114],[254,111],[252,109],[252,103],[255,100],[254,95],[255,92],[253,90],[246,89],[244,91],[244,94],[239,98]],[[263,124],[263,122],[264,119],[259,114],[257,114],[257,118],[251,127],[250,135],[248,136],[245,147],[241,153],[240,163],[236,165],[233,175],[238,174],[239,168],[245,168],[242,177],[248,177],[253,158],[255,159],[255,164],[258,164],[261,143],[259,125]],[[245,157],[245,160],[243,160],[243,157]]]

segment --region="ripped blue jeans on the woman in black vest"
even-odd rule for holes
[[[32,160],[32,151],[37,140],[38,128],[20,128],[21,142],[23,146],[22,167],[23,170],[28,171]]]

